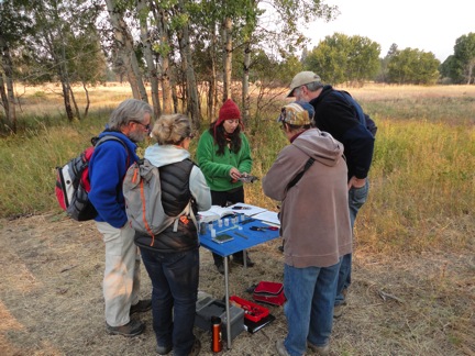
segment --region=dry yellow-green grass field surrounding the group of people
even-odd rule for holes
[[[130,90],[125,86],[91,90],[90,116],[67,123],[53,89],[25,89],[19,112],[23,130],[0,138],[0,247],[5,251],[0,258],[5,271],[0,278],[0,315],[10,321],[0,326],[0,349],[11,355],[152,353],[151,330],[139,341],[111,343],[99,335],[102,245],[93,225],[77,229],[58,210],[53,194],[54,167],[86,147]],[[350,305],[335,322],[332,355],[475,355],[475,86],[374,85],[347,90],[376,121],[378,133],[369,199],[355,226]],[[253,174],[258,177],[286,144],[275,123],[280,103],[246,125]],[[195,146],[196,142],[192,153]],[[268,209],[276,205],[258,182],[246,187],[246,200]],[[68,241],[70,236],[77,240]],[[68,243],[62,245],[62,240]],[[256,269],[233,271],[232,292],[240,293],[256,278],[281,278],[276,247],[277,242],[253,253]],[[200,289],[219,293],[221,279],[209,253],[202,255]],[[78,267],[58,272],[66,265]],[[52,272],[59,285],[69,280],[74,286],[62,294],[48,279]],[[30,318],[21,310],[34,308],[30,300],[21,302],[21,296],[34,297],[43,307],[60,301],[63,313],[51,310],[55,324],[45,326],[51,336],[37,330],[45,315],[34,312]],[[95,313],[74,304],[84,301]],[[95,333],[81,313],[93,321]],[[278,321],[272,327],[240,336],[227,354],[273,355],[275,337],[285,335],[281,310],[273,313]],[[71,320],[86,346],[56,331],[69,331],[64,323]],[[25,342],[27,335],[31,341]],[[201,337],[207,340],[206,334]]]

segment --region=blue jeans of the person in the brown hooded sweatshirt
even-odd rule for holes
[[[333,303],[340,262],[330,267],[284,267],[284,312],[288,333],[284,341],[291,356],[303,355],[307,341],[317,346],[329,343],[333,326]]]

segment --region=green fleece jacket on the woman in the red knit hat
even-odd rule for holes
[[[197,148],[197,159],[208,186],[214,191],[227,191],[239,188],[242,181],[231,182],[232,167],[243,174],[250,174],[252,168],[251,147],[246,136],[241,133],[241,149],[233,153],[225,148],[224,155],[218,155],[218,145],[209,131],[202,133]]]

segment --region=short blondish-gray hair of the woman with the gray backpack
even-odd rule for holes
[[[191,134],[191,123],[184,114],[162,115],[152,129],[158,145],[177,145]]]

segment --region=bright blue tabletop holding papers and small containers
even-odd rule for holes
[[[228,226],[224,225],[225,219],[228,219],[229,221]],[[212,223],[211,222],[207,223],[206,233],[199,235],[201,245],[220,256],[227,257],[236,252],[247,249],[250,247],[279,237],[278,229],[277,230],[265,229],[262,231],[251,230],[252,226],[269,227],[268,224],[263,223],[261,220],[255,220],[248,216],[246,216],[243,221],[241,221],[242,219],[239,220],[240,221],[236,224],[233,224],[231,222],[231,218],[229,216],[222,218],[221,227],[219,226],[218,221],[213,221]],[[217,236],[227,234],[232,236],[233,240],[224,242],[222,244],[212,241],[211,230],[210,230],[211,226],[216,230]]]

